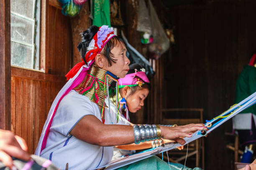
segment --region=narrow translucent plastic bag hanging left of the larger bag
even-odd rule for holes
[[[137,31],[151,34],[151,22],[148,15],[148,8],[144,0],[139,1]]]

